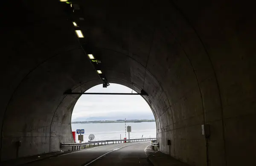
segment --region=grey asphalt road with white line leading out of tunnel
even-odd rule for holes
[[[119,143],[38,160],[27,166],[151,166],[147,162],[146,142]]]

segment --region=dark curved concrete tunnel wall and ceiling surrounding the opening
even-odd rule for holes
[[[249,1],[81,1],[77,21],[110,82],[144,89],[160,150],[192,166],[256,164],[256,28]],[[1,160],[72,142],[79,96],[101,81],[58,0],[4,2]],[[6,10],[8,9],[8,10]],[[146,68],[146,70],[145,70]],[[145,72],[146,71],[146,72]],[[145,79],[145,81],[144,81]],[[201,125],[209,124],[205,140]],[[208,142],[208,148],[206,143]]]

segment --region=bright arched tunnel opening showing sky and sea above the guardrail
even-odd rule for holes
[[[111,84],[108,88],[99,84],[86,93],[137,92],[120,84]],[[140,95],[82,95],[73,109],[71,121],[72,131],[84,129],[85,142],[90,134],[95,135],[94,141],[128,139],[127,126],[132,129],[130,139],[156,138],[154,115]],[[76,142],[79,142],[78,135]]]

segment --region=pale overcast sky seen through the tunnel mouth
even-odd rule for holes
[[[107,88],[103,88],[102,84],[99,84],[86,92],[131,93],[131,89],[119,84],[110,84]],[[154,115],[140,95],[82,95],[72,114],[72,121],[124,118],[152,119]]]

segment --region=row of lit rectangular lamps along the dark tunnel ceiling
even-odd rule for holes
[[[65,2],[67,4],[70,4],[70,7],[74,7],[74,5],[69,1],[69,0],[59,0],[60,2]],[[73,10],[74,12],[74,10]],[[75,21],[72,22],[74,27],[75,28],[78,28],[79,26],[77,25],[77,23]],[[84,34],[82,33],[81,30],[75,30],[75,33],[76,33],[76,36],[78,38],[84,38]],[[87,54],[88,58],[92,61],[92,62],[96,62],[97,64],[98,63],[101,63],[101,61],[99,60],[96,60],[95,57],[93,56],[93,54]],[[105,76],[103,76],[103,73],[102,73],[102,70],[97,70],[97,73],[99,74],[99,77],[102,79],[103,81],[103,87],[107,87],[109,85],[107,79],[105,78]]]

